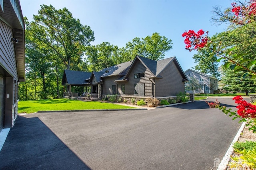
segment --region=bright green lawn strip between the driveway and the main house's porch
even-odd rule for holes
[[[47,110],[87,110],[87,109],[128,109],[135,108],[104,102],[82,102],[80,100],[52,99],[18,102],[18,113],[34,113]]]

